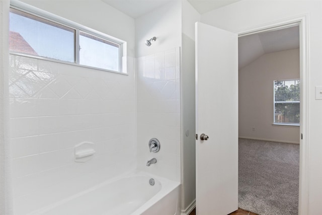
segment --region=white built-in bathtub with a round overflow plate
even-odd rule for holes
[[[150,178],[155,181],[153,186]],[[179,182],[137,173],[104,182],[31,214],[170,215],[180,214],[180,210]]]

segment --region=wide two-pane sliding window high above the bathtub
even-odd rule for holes
[[[122,72],[121,41],[78,24],[75,27],[70,21],[58,22],[54,15],[49,19],[29,11],[10,8],[11,53]]]

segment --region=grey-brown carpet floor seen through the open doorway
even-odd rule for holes
[[[238,207],[261,215],[298,213],[299,145],[239,139]]]

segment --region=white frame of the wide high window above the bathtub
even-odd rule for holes
[[[102,32],[99,32],[97,30],[91,29],[89,27],[83,26],[81,24],[72,22],[70,20],[64,19],[62,17],[59,17],[57,15],[51,14],[49,12],[43,11],[41,9],[38,9],[36,7],[27,5],[25,3],[19,2],[19,1],[10,1],[10,8],[19,10],[21,12],[39,17],[40,19],[47,20],[49,22],[53,22],[57,25],[61,25],[70,29],[73,29],[75,31],[74,35],[74,62],[68,62],[68,61],[63,61],[55,58],[49,58],[49,57],[44,57],[44,56],[35,56],[31,54],[25,54],[25,53],[20,53],[20,52],[14,52],[14,51],[9,51],[10,54],[14,55],[19,55],[19,56],[25,56],[25,57],[30,57],[30,58],[36,58],[36,59],[41,59],[41,60],[47,60],[47,61],[53,61],[53,62],[58,62],[58,63],[64,63],[64,64],[69,64],[69,65],[75,65],[75,66],[81,66],[81,67],[86,67],[86,68],[92,68],[92,69],[97,69],[97,70],[103,70],[103,71],[109,71],[111,73],[117,73],[117,74],[122,74],[122,75],[128,75],[126,73],[126,66],[125,65],[125,56],[124,54],[126,53],[126,42],[123,40],[120,40],[118,38],[109,36],[107,34],[104,34]],[[110,69],[105,69],[105,68],[99,68],[99,67],[94,67],[94,66],[88,66],[88,65],[82,65],[79,64],[79,34],[80,32],[85,32],[87,34],[93,35],[95,37],[98,37],[103,40],[107,40],[111,43],[117,44],[118,45],[118,56],[119,56],[119,70],[110,70]]]

